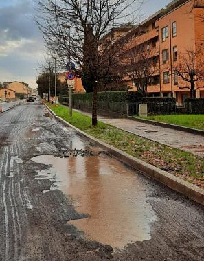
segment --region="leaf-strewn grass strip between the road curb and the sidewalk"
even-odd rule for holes
[[[158,168],[168,170],[171,174],[181,177],[195,185],[204,186],[204,160],[201,157],[192,155],[175,148],[158,144],[157,142],[126,133],[98,122],[98,126],[91,126],[91,118],[73,111],[73,117],[69,116],[69,108],[60,105],[47,104],[56,115],[73,124],[80,130],[100,139],[101,141],[119,148],[134,157],[137,157]]]

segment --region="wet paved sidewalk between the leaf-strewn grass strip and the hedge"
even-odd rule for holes
[[[80,111],[78,109],[74,110],[91,117],[91,113]],[[204,157],[204,137],[201,135],[187,133],[185,131],[172,130],[170,128],[154,126],[152,124],[146,124],[128,119],[98,116],[98,120],[117,128],[121,128],[124,131],[136,134],[140,137],[157,141],[161,144],[165,144],[173,148],[179,148],[181,150],[191,152],[194,155]]]

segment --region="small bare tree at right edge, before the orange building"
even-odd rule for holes
[[[190,89],[190,97],[195,98],[196,90],[202,88],[204,82],[203,51],[187,49],[184,54],[179,54],[173,70],[174,75],[178,76],[179,88]]]

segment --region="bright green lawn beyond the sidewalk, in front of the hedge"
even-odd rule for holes
[[[144,117],[148,120],[155,120],[157,122],[166,122],[170,124],[185,126],[188,128],[197,128],[204,131],[204,114],[199,115],[159,115]]]

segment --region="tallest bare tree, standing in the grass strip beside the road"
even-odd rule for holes
[[[68,57],[93,83],[92,124],[97,125],[97,92],[120,48],[115,36],[102,39],[114,27],[130,22],[135,4],[141,0],[44,0],[38,1],[38,27],[47,48],[65,64]],[[120,45],[122,47],[122,45]],[[114,52],[113,52],[114,49]]]

